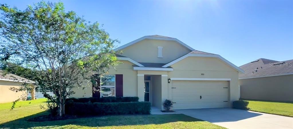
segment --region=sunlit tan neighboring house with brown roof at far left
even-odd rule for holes
[[[15,92],[10,90],[10,88],[20,88],[23,86],[23,83],[28,83],[29,85],[33,86],[32,83],[34,83],[34,81],[14,74],[3,75],[0,71],[0,103],[12,102],[19,98],[21,100],[26,100],[27,91]],[[34,96],[34,90],[32,90],[30,93]],[[34,97],[32,99],[34,99]]]

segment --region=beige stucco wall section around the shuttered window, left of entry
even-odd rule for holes
[[[116,66],[116,70],[111,67],[107,74],[123,74],[123,96],[135,97],[137,96],[137,71],[133,70],[133,65],[129,61],[120,61],[122,64]],[[92,83],[84,83],[86,89],[74,88],[74,95],[71,97],[92,97]]]

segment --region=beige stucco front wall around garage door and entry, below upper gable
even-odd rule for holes
[[[165,99],[171,99],[171,83],[168,83],[168,78],[226,78],[231,79],[228,83],[229,87],[229,102],[230,106],[232,102],[239,98],[239,87],[238,87],[238,72],[226,65],[224,62],[213,57],[187,57],[173,65],[173,71],[146,71],[146,70],[133,70],[131,62],[122,61],[115,69],[109,69],[107,74],[123,74],[123,96],[137,96],[139,101],[144,100],[144,76],[143,75],[167,75],[161,76],[161,78],[153,78],[151,81],[161,81],[161,97],[154,96],[152,93],[152,100],[154,106],[158,106],[159,102],[154,100],[155,98],[161,98],[160,105]],[[138,76],[139,74],[139,76]],[[205,75],[201,75],[205,74]],[[159,80],[160,79],[160,80]],[[154,92],[154,87],[151,90]],[[84,92],[82,92],[84,93]],[[91,95],[92,90],[88,90],[87,94]],[[84,95],[84,94],[83,94]],[[73,95],[74,97],[81,97],[81,95]]]

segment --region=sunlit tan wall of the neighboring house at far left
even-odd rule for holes
[[[9,89],[11,87],[20,88],[21,84],[20,82],[0,81],[0,103],[12,102],[19,98],[25,100],[27,96],[26,91],[15,92]]]

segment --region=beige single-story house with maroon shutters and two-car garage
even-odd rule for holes
[[[165,99],[174,102],[173,109],[231,107],[239,99],[238,74],[244,71],[220,55],[159,35],[114,50],[124,51],[117,53],[123,64],[100,79],[102,92],[74,89],[72,97],[137,96],[159,109]]]

